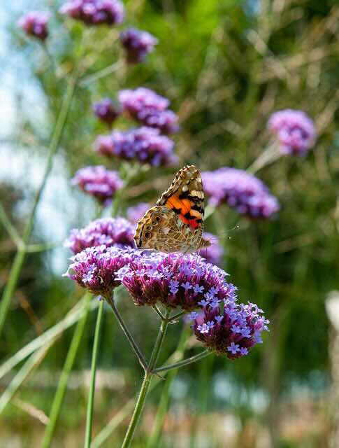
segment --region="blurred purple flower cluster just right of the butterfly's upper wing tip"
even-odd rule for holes
[[[265,184],[243,169],[222,167],[203,172],[203,187],[212,205],[226,202],[240,214],[251,218],[270,218],[279,210],[277,198]]]

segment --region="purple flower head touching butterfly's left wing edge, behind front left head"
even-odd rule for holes
[[[73,253],[79,253],[87,247],[135,247],[134,225],[124,218],[100,218],[89,223],[83,229],[72,229],[65,241]]]

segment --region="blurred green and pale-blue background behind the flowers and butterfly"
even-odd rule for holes
[[[43,176],[74,55],[86,45],[81,59],[84,73],[122,59],[117,43],[121,27],[91,28],[90,38],[82,38],[85,25],[59,15],[61,4],[3,0],[1,8],[0,200],[19,232]],[[246,169],[268,145],[271,113],[301,109],[315,121],[314,148],[304,158],[285,156],[257,173],[279,200],[279,214],[272,220],[251,221],[224,205],[205,223],[208,232],[220,236],[239,226],[231,239],[220,239],[224,246],[220,264],[238,286],[241,302],[252,300],[265,310],[271,332],[250,356],[234,362],[215,356],[179,370],[168,391],[161,436],[152,446],[339,447],[338,311],[333,293],[339,289],[338,3],[129,0],[124,4],[125,25],[149,31],[159,43],[145,63],[121,64],[114,73],[75,92],[36,213],[31,243],[38,245],[37,250],[24,262],[0,340],[1,360],[62,321],[82,295],[62,276],[71,256],[63,241],[71,228],[94,219],[97,205],[71,186],[71,178],[87,165],[110,169],[121,165],[92,149],[96,136],[107,132],[94,116],[94,102],[115,99],[122,88],[144,86],[171,99],[171,109],[179,116],[180,132],[173,137],[178,166],[141,172],[124,192],[123,211],[140,201],[154,203],[185,164],[201,170]],[[50,36],[43,44],[17,27],[18,18],[29,10],[51,14]],[[120,129],[129,125],[124,118],[115,123]],[[0,248],[3,288],[16,247],[2,226]],[[136,308],[123,294],[119,307],[149,353],[157,316],[150,309]],[[53,447],[82,447],[94,323],[90,314]],[[164,359],[178,344],[178,328],[168,332]],[[57,337],[6,407],[0,447],[39,446],[72,332],[66,328]],[[139,365],[108,309],[101,337],[94,435],[136,396],[141,379]],[[16,365],[0,380],[2,390],[19,368]],[[149,435],[164,387],[160,381],[148,398],[136,448],[152,448]],[[127,423],[128,418],[122,419],[100,446],[119,446]]]

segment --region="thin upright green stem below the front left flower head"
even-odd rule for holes
[[[84,448],[89,448],[92,439],[92,420],[93,420],[93,408],[94,408],[94,391],[95,391],[95,377],[96,377],[96,362],[98,360],[99,342],[101,323],[103,316],[103,300],[99,304],[98,314],[96,317],[94,342],[92,350],[92,366],[91,366],[91,380],[89,384],[89,394],[87,402],[87,418],[86,418],[86,432],[85,432],[85,444]]]

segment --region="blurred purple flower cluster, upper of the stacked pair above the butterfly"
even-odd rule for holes
[[[164,134],[177,132],[178,116],[168,108],[169,100],[153,90],[138,87],[136,90],[120,90],[119,101],[124,111],[148,127],[155,127]]]

